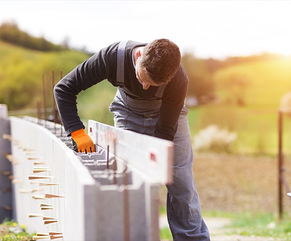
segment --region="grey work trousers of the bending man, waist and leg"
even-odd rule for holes
[[[117,94],[110,105],[115,127],[152,135],[158,112],[142,115],[129,110],[125,101]],[[142,102],[139,104],[142,106]],[[199,197],[193,180],[193,153],[187,112],[184,107],[174,139],[174,182],[167,185],[167,216],[174,241],[206,241],[210,240],[209,231],[201,217]]]

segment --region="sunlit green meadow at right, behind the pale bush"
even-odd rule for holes
[[[189,109],[191,137],[208,125],[217,125],[237,134],[233,152],[274,155],[278,151],[276,108],[209,104]],[[291,118],[283,116],[283,151],[290,154]]]

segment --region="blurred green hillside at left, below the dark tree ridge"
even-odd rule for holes
[[[0,41],[0,103],[9,110],[35,108],[42,101],[42,75],[47,106],[52,106],[53,71],[55,83],[62,75],[89,56],[75,50],[41,52]]]

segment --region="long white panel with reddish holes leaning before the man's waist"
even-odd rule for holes
[[[139,172],[151,176],[156,182],[170,184],[173,181],[173,142],[93,120],[88,121],[88,128],[94,143],[104,149],[109,147],[110,152]]]

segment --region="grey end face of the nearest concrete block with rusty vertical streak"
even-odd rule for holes
[[[158,220],[158,213],[146,208],[146,185],[100,185],[97,191],[96,228],[100,241],[158,240],[158,225],[148,233],[147,218]],[[158,203],[155,203],[158,207]],[[114,230],[113,230],[114,229]]]

